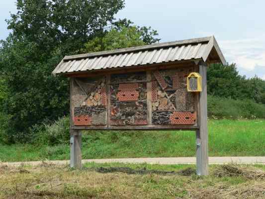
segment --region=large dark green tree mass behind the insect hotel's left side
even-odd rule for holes
[[[32,126],[69,114],[68,80],[51,75],[65,55],[81,53],[85,44],[96,40],[108,42],[100,44],[108,48],[111,36],[130,37],[130,46],[157,42],[157,32],[150,27],[114,20],[124,0],[17,0],[16,4],[17,13],[7,20],[12,33],[0,44],[5,90],[0,111],[10,115],[5,129],[9,142],[25,141]],[[139,35],[143,41],[136,42]],[[90,45],[90,51],[95,50]]]

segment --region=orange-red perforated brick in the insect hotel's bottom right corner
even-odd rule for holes
[[[170,115],[171,124],[195,124],[196,114],[191,112],[174,112]]]

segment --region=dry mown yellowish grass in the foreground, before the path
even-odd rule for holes
[[[125,172],[108,172],[113,169]],[[90,163],[82,170],[0,165],[0,199],[25,198],[264,199],[265,166],[210,166],[210,175],[199,177],[194,165]]]

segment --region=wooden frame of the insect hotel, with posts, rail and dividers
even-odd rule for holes
[[[163,64],[163,69],[174,69],[181,67],[183,64]],[[152,101],[151,101],[151,78],[153,68],[139,67],[138,70],[133,71],[146,71],[146,88],[147,88],[147,121],[148,125],[137,125],[137,126],[110,126],[110,108],[107,108],[107,120],[105,126],[75,126],[73,124],[73,102],[70,101],[70,110],[71,110],[71,167],[81,168],[81,130],[193,130],[196,132],[196,160],[197,160],[197,175],[208,175],[208,132],[207,132],[207,85],[206,85],[206,64],[203,61],[195,64],[194,62],[187,62],[186,66],[194,66],[194,72],[198,72],[202,78],[202,92],[194,93],[195,95],[195,109],[197,121],[194,125],[153,125],[152,123]],[[110,75],[115,73],[110,72],[106,75],[106,91],[107,98],[110,99],[110,85],[111,83]],[[120,72],[120,71],[119,71]],[[122,73],[125,73],[123,71]],[[120,72],[121,73],[121,72]],[[90,76],[91,75],[91,76]],[[94,77],[93,74],[86,74],[82,77]],[[80,77],[77,75],[77,77]],[[72,89],[74,85],[75,76],[70,78],[70,95],[72,96]],[[143,81],[139,81],[143,82]],[[124,82],[126,83],[126,82]],[[110,100],[107,100],[107,107],[110,107]]]

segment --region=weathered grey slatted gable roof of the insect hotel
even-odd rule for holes
[[[212,36],[66,56],[52,73],[66,74],[193,59],[206,61],[213,47],[217,52],[219,61],[224,64],[225,59]]]

